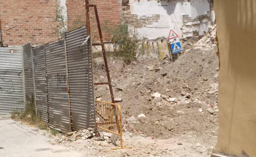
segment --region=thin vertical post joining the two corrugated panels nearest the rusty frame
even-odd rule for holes
[[[71,121],[71,107],[70,107],[70,92],[69,92],[69,71],[68,71],[68,59],[66,52],[66,36],[64,33],[64,51],[65,51],[65,60],[66,60],[66,81],[67,81],[67,91],[68,91],[68,105],[69,105],[69,129],[73,131],[72,121]]]

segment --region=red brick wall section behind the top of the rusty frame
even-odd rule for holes
[[[86,23],[85,0],[66,0],[68,10],[69,30]],[[108,26],[117,25],[121,22],[121,0],[89,0],[89,4],[96,4],[98,15],[103,29],[103,40],[110,38],[104,32],[104,25],[108,21]],[[90,7],[91,33],[94,42],[99,41],[98,27],[96,23],[94,8]]]

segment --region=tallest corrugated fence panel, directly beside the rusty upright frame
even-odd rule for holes
[[[65,37],[72,127],[74,130],[94,128],[92,59],[87,29],[76,29]]]

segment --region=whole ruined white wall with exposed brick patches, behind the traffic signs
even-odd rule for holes
[[[138,23],[141,38],[167,38],[170,29],[181,38],[193,36],[193,31],[204,35],[211,22],[208,0],[130,0],[129,7],[133,18],[129,21],[132,25]]]

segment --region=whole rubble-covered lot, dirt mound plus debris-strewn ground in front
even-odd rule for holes
[[[74,134],[67,139],[60,133],[51,135],[50,130],[39,133],[49,137],[50,144],[85,157],[209,157],[218,135],[215,33],[212,27],[198,42],[184,42],[190,47],[173,63],[148,59],[127,65],[108,58],[114,97],[122,108],[123,144],[132,148],[111,150],[116,147],[113,142],[96,136]],[[107,82],[100,58],[95,60],[94,74],[94,82]],[[94,92],[98,100],[111,102],[107,85],[95,86]]]

